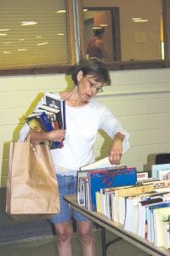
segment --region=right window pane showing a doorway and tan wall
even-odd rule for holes
[[[105,48],[105,61],[164,60],[161,0],[83,0],[83,18],[86,54],[91,45]]]

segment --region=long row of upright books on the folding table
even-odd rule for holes
[[[144,175],[134,167],[97,166],[98,162],[85,166],[78,174],[79,204],[104,214],[156,247],[170,249],[170,164],[152,166],[153,177],[146,179],[141,179]]]

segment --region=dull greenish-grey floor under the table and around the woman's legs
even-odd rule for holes
[[[112,234],[107,234],[112,238]],[[101,241],[99,230],[95,231],[95,239],[97,241],[96,255],[102,256]],[[0,245],[0,256],[57,256],[56,237],[44,236],[32,239],[21,240],[17,242],[8,242]],[[77,236],[73,238],[73,255],[81,256],[80,244]],[[107,256],[147,256],[137,247],[133,247],[126,241],[118,241],[116,244],[111,245],[107,249]]]

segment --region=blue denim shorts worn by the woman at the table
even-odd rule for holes
[[[71,218],[75,218],[77,221],[89,221],[88,218],[84,217],[79,212],[72,210],[63,198],[64,195],[77,193],[77,177],[74,175],[63,176],[57,174],[57,179],[59,184],[60,212],[49,218],[50,222],[59,224]]]

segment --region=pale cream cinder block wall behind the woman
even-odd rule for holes
[[[0,186],[6,186],[9,142],[17,140],[27,114],[45,91],[71,88],[65,74],[0,77]],[[170,152],[170,69],[111,72],[111,86],[97,96],[130,133],[122,164],[148,171],[157,153]],[[96,159],[108,154],[111,140],[99,131]]]

